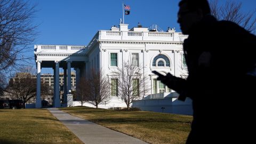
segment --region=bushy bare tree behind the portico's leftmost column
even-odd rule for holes
[[[28,69],[29,70],[29,69]],[[15,77],[11,79],[5,92],[9,93],[12,99],[20,99],[23,101],[23,108],[25,103],[30,99],[36,97],[36,77],[28,71],[17,73]],[[50,95],[51,88],[47,84],[41,82],[41,95]]]

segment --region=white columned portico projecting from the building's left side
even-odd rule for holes
[[[60,103],[60,68],[64,72],[63,103],[67,105],[67,93],[71,90],[71,68],[75,68],[76,77],[85,75],[86,46],[69,45],[35,45],[35,60],[37,65],[37,95],[36,108],[41,108],[41,68],[53,68],[54,89],[53,106],[61,107]],[[78,81],[76,81],[78,83]]]

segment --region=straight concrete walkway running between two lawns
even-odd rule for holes
[[[57,108],[48,108],[53,116],[59,119],[68,129],[73,132],[85,144],[145,144],[147,142],[130,137],[121,132],[110,130],[101,125],[85,119],[71,116]]]

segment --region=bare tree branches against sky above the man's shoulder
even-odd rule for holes
[[[242,12],[242,2],[226,1],[219,5],[218,0],[210,0],[211,14],[218,20],[228,20],[237,23],[251,33],[256,30],[256,9],[249,12]]]

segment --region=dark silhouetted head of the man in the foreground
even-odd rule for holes
[[[179,3],[178,23],[183,34],[188,35],[190,28],[210,14],[207,0],[182,0]]]

